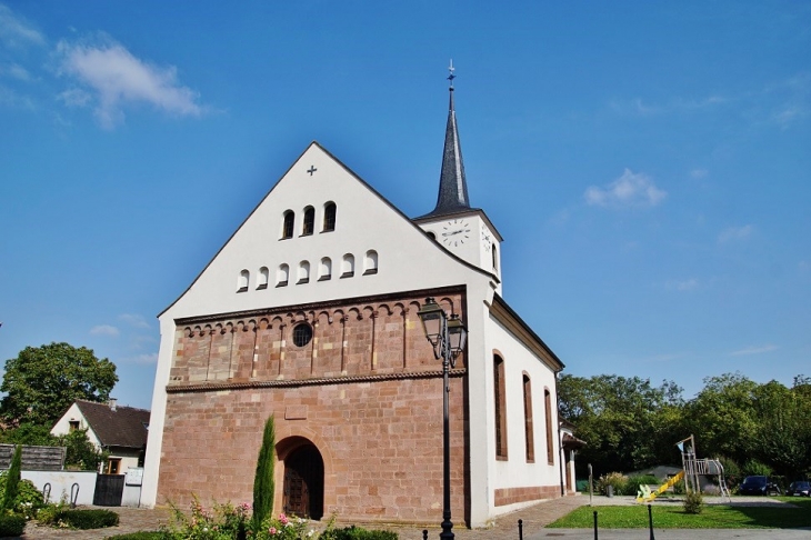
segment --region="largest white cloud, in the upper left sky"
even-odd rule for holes
[[[178,82],[173,66],[150,64],[116,42],[89,46],[61,41],[57,52],[60,74],[72,78],[93,96],[96,117],[106,129],[123,122],[122,109],[131,103],[144,102],[180,116],[203,112],[197,103],[198,93]],[[68,102],[71,97],[62,99]]]

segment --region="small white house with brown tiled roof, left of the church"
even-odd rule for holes
[[[109,452],[103,470],[107,474],[123,474],[130,467],[143,467],[149,428],[149,411],[108,403],[76,400],[51,429],[63,436],[87,429],[88,439],[98,450]]]

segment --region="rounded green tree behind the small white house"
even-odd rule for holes
[[[52,426],[77,399],[103,402],[118,382],[116,364],[68,343],[27,347],[6,361],[0,416],[9,424]]]

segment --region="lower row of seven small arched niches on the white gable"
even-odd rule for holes
[[[327,281],[332,279],[332,259],[329,257],[322,257],[319,261],[316,273],[318,281]],[[313,269],[310,266],[310,261],[300,261],[296,269],[296,274],[291,274],[290,264],[283,262],[279,264],[276,270],[276,287],[287,287],[288,283],[294,279],[296,284],[309,283],[312,276]],[[354,276],[356,262],[352,253],[346,253],[341,258],[340,262],[340,278],[351,278]],[[378,252],[370,249],[363,256],[363,276],[370,276],[378,273]],[[267,289],[268,282],[270,281],[270,270],[268,267],[259,269],[257,277],[256,288],[257,290]],[[243,269],[239,273],[237,281],[237,292],[246,292],[251,284],[251,272],[248,269]]]

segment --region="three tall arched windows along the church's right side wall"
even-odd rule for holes
[[[534,462],[534,426],[532,422],[532,382],[524,371],[522,376],[523,393],[523,431],[524,454],[527,462]],[[493,354],[493,397],[495,411],[495,459],[507,459],[507,389],[504,378],[504,359]],[[544,423],[547,431],[547,462],[554,464],[554,443],[552,432],[552,394],[548,388],[543,389]]]

